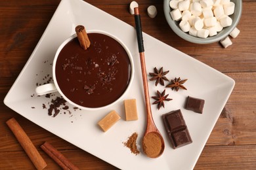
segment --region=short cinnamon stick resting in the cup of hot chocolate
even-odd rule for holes
[[[86,33],[85,27],[83,25],[77,25],[75,27],[75,33],[77,35],[77,38],[79,40],[80,46],[84,49],[87,50],[89,48],[91,42],[88,38],[88,35]]]

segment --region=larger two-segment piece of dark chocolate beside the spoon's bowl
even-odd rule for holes
[[[180,109],[163,114],[163,124],[173,148],[179,148],[192,143],[188,127]]]

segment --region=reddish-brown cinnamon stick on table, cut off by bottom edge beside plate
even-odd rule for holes
[[[62,169],[79,169],[73,163],[71,163],[65,156],[63,156],[56,148],[54,148],[50,143],[43,143],[41,148],[45,153],[47,153]]]

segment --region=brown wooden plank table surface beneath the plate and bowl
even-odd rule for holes
[[[127,24],[135,25],[129,14],[127,0],[88,0]],[[232,46],[223,48],[219,42],[192,44],[179,38],[163,14],[163,1],[138,0],[142,27],[178,50],[221,71],[236,85],[217,121],[195,169],[256,169],[256,1],[244,0],[240,35]],[[0,1],[0,97],[7,95],[37,42],[45,31],[60,0]],[[149,18],[146,9],[155,5],[158,16]],[[46,169],[58,169],[39,146],[43,141],[53,144],[64,156],[81,169],[116,169],[95,156],[60,139],[42,127],[0,103],[0,169],[35,169],[5,122],[16,118],[45,161]],[[186,163],[186,162],[184,162]]]

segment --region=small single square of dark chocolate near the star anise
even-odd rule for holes
[[[203,99],[198,99],[195,97],[190,97],[186,99],[186,107],[185,109],[192,110],[194,112],[198,113],[203,113],[203,105],[204,105],[204,100]]]

